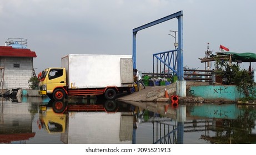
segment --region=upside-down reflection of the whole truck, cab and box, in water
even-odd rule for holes
[[[54,112],[56,103],[65,106],[62,113]],[[64,130],[61,132],[63,143],[132,143],[134,116],[128,104],[113,100],[65,104],[51,100],[49,105],[51,107],[42,109],[45,112],[41,112],[41,122],[48,124],[51,120],[54,125],[62,125],[58,131]],[[59,116],[65,116],[65,120]]]

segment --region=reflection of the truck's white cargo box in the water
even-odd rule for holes
[[[132,143],[131,112],[68,112],[63,143],[125,144]]]

